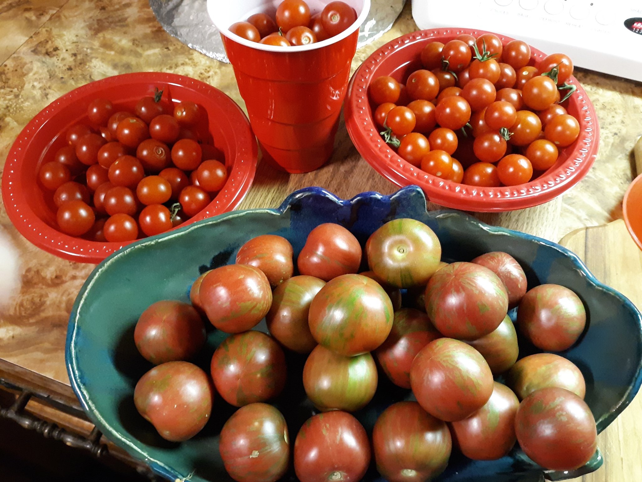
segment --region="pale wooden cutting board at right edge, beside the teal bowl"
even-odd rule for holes
[[[577,254],[598,280],[620,291],[642,309],[642,251],[624,221],[577,229],[560,244]],[[598,437],[604,465],[573,482],[642,481],[642,395]]]

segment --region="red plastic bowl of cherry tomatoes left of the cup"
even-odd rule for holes
[[[129,243],[100,243],[75,238],[56,228],[56,207],[52,192],[40,186],[42,163],[52,160],[65,145],[65,131],[74,123],[87,120],[87,105],[97,97],[111,100],[117,110],[133,112],[143,96],[153,95],[155,87],[164,90],[171,102],[191,101],[207,113],[203,132],[225,154],[229,179],[207,207],[187,220],[197,220],[233,210],[247,194],[257,163],[256,138],[241,109],[218,89],[182,75],[141,72],[117,75],[83,85],[65,94],[40,111],[15,139],[6,158],[2,196],[9,219],[31,243],[76,262],[100,263],[109,254]]]

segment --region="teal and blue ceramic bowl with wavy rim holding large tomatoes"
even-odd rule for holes
[[[290,195],[279,209],[226,213],[135,242],[109,256],[89,276],[69,319],[67,370],[87,415],[112,442],[170,480],[231,480],[218,453],[218,433],[234,408],[221,402],[220,397],[205,429],[180,444],[162,440],[135,410],[135,383],[150,368],[134,346],[137,318],[160,299],[189,299],[189,287],[200,272],[234,262],[239,247],[257,235],[272,233],[288,238],[296,255],[311,229],[324,222],[342,224],[365,243],[379,226],[401,217],[428,224],[440,238],[443,258],[448,262],[469,261],[487,251],[506,251],[524,267],[529,287],[557,283],[575,291],[586,305],[588,327],[580,341],[561,354],[584,373],[586,402],[598,432],[629,405],[642,382],[642,317],[627,298],[596,280],[568,249],[524,233],[487,226],[456,211],[427,212],[421,189],[409,186],[390,197],[363,193],[349,201],[320,188],[308,188]],[[265,323],[257,329],[265,330]],[[196,361],[208,372],[211,354],[225,336],[214,330],[209,333],[207,349]],[[528,348],[521,353],[525,354]],[[302,390],[303,362],[288,355],[290,382],[273,402],[286,416],[292,439],[313,414]],[[386,406],[410,397],[410,391],[396,388],[380,376],[374,400],[355,415],[370,431]],[[478,462],[453,454],[448,469],[437,480],[561,480],[592,472],[600,465],[598,451],[587,465],[573,472],[546,471],[516,447],[496,461]],[[293,472],[284,478],[294,479]],[[363,480],[383,482],[374,467]]]

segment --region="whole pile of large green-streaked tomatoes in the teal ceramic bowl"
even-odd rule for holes
[[[560,285],[527,290],[510,254],[442,262],[426,224],[395,219],[364,247],[325,223],[296,257],[286,238],[261,235],[235,261],[203,272],[191,303],[153,303],[134,330],[155,365],[135,386],[137,410],[160,436],[182,442],[222,416],[212,407],[223,398],[235,408],[218,448],[233,479],[275,482],[293,461],[301,482],[358,481],[371,462],[388,481],[428,481],[453,451],[496,460],[516,442],[546,469],[577,469],[594,455],[582,372],[550,353],[578,341],[586,308]],[[254,329],[264,318],[268,334]],[[206,323],[228,335],[206,353],[209,373],[190,362],[204,350]],[[535,353],[517,361],[521,348]],[[295,437],[270,404],[300,384],[291,353],[306,357],[302,384],[318,411]],[[369,438],[351,413],[372,402],[377,364],[416,401],[377,414]]]

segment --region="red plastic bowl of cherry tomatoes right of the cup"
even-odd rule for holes
[[[575,143],[560,150],[555,165],[530,183],[500,188],[480,188],[444,181],[412,166],[397,155],[383,141],[372,121],[372,107],[368,99],[370,81],[381,75],[391,75],[405,82],[410,73],[421,67],[419,55],[428,42],[446,43],[462,33],[474,37],[487,33],[483,30],[443,28],[409,33],[388,42],[372,53],[352,76],[345,101],[345,124],[352,142],[361,156],[379,174],[399,186],[417,184],[430,201],[467,211],[510,211],[537,206],[550,201],[571,188],[584,177],[595,161],[598,150],[598,122],[593,104],[575,77],[569,82],[577,91],[569,99],[567,111],[580,123],[580,136]],[[510,37],[498,35],[503,44]],[[545,57],[531,47],[531,65]]]

